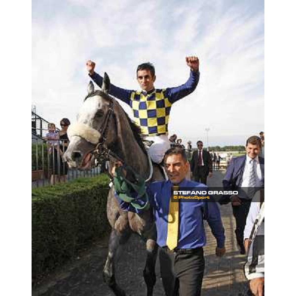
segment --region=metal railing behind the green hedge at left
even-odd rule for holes
[[[104,165],[85,171],[68,168],[68,164],[62,158],[66,149],[65,140],[45,140],[32,133],[32,187],[69,182],[81,177],[94,177],[106,171]]]

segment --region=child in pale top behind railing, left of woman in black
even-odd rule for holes
[[[53,185],[58,181],[59,168],[61,166],[61,155],[63,151],[59,145],[59,133],[56,131],[56,126],[54,123],[48,123],[47,125],[48,133],[45,139],[48,143],[49,156],[49,167],[51,169],[50,184]]]

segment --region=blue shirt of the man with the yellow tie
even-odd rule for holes
[[[173,184],[170,181],[153,182],[147,187],[150,205],[153,209],[157,244],[166,246],[168,213]],[[190,187],[192,190],[207,190],[208,186],[194,181],[183,180],[179,187]],[[120,202],[120,207],[133,211],[131,205]],[[225,236],[218,204],[214,201],[179,200],[179,249],[194,249],[206,245],[206,234],[203,221],[206,220],[217,240],[219,248],[224,247]]]

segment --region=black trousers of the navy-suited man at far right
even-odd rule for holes
[[[235,236],[237,244],[240,246],[241,250],[244,250],[244,229],[247,221],[247,216],[251,206],[250,199],[240,198],[240,206],[232,206],[232,213],[235,218]]]

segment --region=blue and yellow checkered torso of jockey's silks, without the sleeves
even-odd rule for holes
[[[172,103],[165,97],[165,89],[155,89],[149,94],[142,91],[132,92],[130,106],[143,135],[168,134]]]

